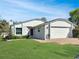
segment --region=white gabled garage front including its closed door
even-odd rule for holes
[[[58,28],[57,28],[58,27]],[[72,37],[72,25],[66,21],[50,22],[50,39]]]

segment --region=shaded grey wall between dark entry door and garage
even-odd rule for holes
[[[38,29],[40,29],[40,32],[38,32]],[[35,27],[33,37],[37,39],[45,39],[45,27],[44,26]]]

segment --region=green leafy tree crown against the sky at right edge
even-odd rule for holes
[[[79,25],[79,8],[71,11],[70,13],[69,21],[75,23],[76,25]]]

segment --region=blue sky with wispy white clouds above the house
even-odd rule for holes
[[[0,18],[25,21],[46,17],[47,20],[69,18],[79,7],[79,0],[0,0]]]

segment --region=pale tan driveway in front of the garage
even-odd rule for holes
[[[57,44],[76,44],[79,45],[78,38],[61,38],[61,39],[51,39],[51,40],[36,40],[40,43],[57,43]]]

